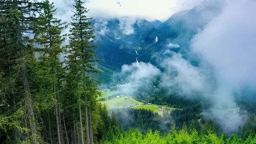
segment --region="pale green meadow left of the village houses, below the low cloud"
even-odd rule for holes
[[[135,104],[142,105],[143,103],[134,100],[130,97],[115,98],[108,101],[101,101],[100,103],[105,104],[107,108],[122,108],[123,106],[132,106]]]

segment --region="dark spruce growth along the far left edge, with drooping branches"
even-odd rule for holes
[[[38,142],[30,85],[35,58],[32,39],[26,35],[33,29],[38,8],[40,3],[28,0],[1,1],[0,131],[7,143]]]

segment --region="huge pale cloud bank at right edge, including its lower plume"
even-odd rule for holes
[[[239,92],[256,89],[256,1],[226,1],[222,13],[212,19],[202,32],[195,36],[191,47],[203,62],[213,67],[217,81],[216,90],[207,97],[213,107],[206,115],[219,122],[229,132],[243,125],[245,113],[231,112],[237,107]]]

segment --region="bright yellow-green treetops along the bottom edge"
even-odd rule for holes
[[[255,143],[255,140],[256,138],[252,136],[242,140],[236,135],[227,139],[214,133],[199,135],[196,130],[190,132],[180,130],[165,135],[160,135],[158,131],[149,131],[143,135],[138,130],[131,129],[101,143]]]

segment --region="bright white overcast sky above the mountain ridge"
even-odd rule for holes
[[[50,0],[58,9],[58,15],[69,21],[73,0]],[[91,17],[133,16],[146,20],[168,19],[176,12],[189,10],[203,0],[87,0]]]

